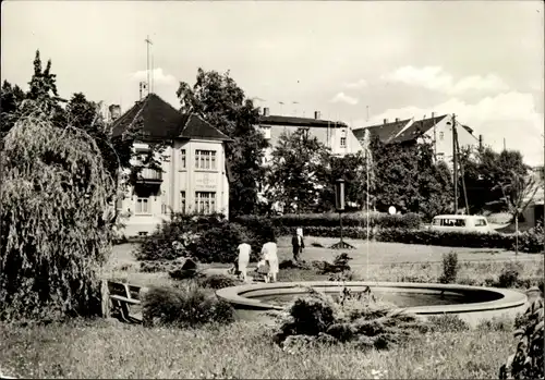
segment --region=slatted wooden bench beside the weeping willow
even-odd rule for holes
[[[142,323],[142,312],[131,314],[131,306],[141,305],[143,287],[122,282],[108,281],[108,296],[111,302],[112,317],[122,322]]]

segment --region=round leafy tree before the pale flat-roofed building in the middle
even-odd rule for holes
[[[298,211],[310,210],[329,182],[329,149],[316,137],[306,137],[302,130],[282,133],[272,150],[267,197]]]

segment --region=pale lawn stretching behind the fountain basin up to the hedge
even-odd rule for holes
[[[408,281],[408,279],[423,279],[436,282],[441,274],[443,254],[458,253],[460,261],[459,279],[468,283],[470,280],[482,283],[486,278],[499,275],[505,262],[518,260],[522,265],[523,278],[543,278],[543,255],[519,254],[513,252],[475,248],[452,248],[416,244],[380,243],[367,244],[364,241],[346,240],[355,249],[334,250],[328,247],[338,240],[328,237],[306,237],[306,248],[302,259],[332,261],[340,252],[347,252],[353,260],[350,266],[359,279],[370,281]],[[313,244],[320,245],[315,247]],[[133,244],[118,245],[113,249],[111,259],[105,269],[107,279],[126,280],[137,285],[169,284],[168,273],[142,273],[137,271],[138,262],[132,252],[136,248]],[[278,256],[280,261],[291,259],[291,237],[282,236],[278,241]],[[209,271],[225,271],[228,265],[205,265]],[[251,265],[252,267],[252,265]],[[368,268],[368,271],[367,271]],[[323,277],[324,279],[327,275]],[[286,270],[280,271],[279,281],[296,281],[316,279],[316,274],[308,271]]]

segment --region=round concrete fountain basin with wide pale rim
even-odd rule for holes
[[[306,293],[303,286],[336,295],[348,287],[361,292],[368,286],[373,294],[407,311],[428,317],[457,315],[470,326],[483,319],[505,317],[513,319],[526,307],[525,294],[495,287],[458,284],[428,284],[408,282],[276,282],[244,284],[220,289],[216,292],[220,299],[230,303],[239,318],[249,320],[267,319],[267,311],[282,310],[292,299]]]

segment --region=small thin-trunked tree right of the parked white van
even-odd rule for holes
[[[532,175],[522,175],[512,170],[510,177],[504,180],[497,187],[501,191],[502,200],[514,220],[514,253],[518,255],[519,218],[532,203],[538,186]]]

